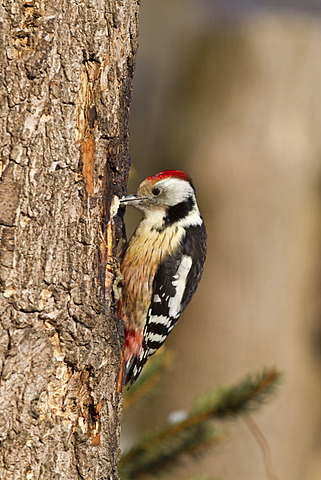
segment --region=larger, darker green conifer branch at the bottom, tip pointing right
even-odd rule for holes
[[[252,412],[274,392],[279,380],[275,369],[266,369],[247,376],[238,385],[203,396],[187,418],[145,436],[125,454],[119,465],[121,478],[139,480],[146,474],[162,474],[184,454],[199,455],[205,447],[221,442],[223,434],[214,429],[212,421]]]

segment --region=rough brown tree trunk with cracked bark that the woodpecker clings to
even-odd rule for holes
[[[0,478],[117,479],[109,210],[129,170],[138,0],[0,8]]]

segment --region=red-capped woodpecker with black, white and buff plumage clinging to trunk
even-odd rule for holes
[[[124,384],[132,385],[194,295],[206,257],[206,229],[191,178],[166,170],[120,200],[143,213],[120,265],[124,279]]]

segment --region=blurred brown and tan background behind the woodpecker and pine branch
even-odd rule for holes
[[[164,169],[192,175],[209,244],[173,368],[126,438],[275,366],[283,383],[255,420],[277,478],[320,480],[321,2],[143,0],[131,156],[131,192]],[[268,478],[242,422],[165,478],[195,474]]]

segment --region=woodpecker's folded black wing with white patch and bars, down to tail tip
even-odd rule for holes
[[[180,247],[160,264],[156,272],[153,296],[143,331],[143,348],[139,356],[132,358],[128,365],[125,384],[136,381],[148,357],[162,346],[173,330],[196,291],[205,257],[205,226],[190,226]]]

